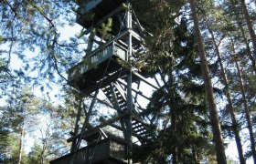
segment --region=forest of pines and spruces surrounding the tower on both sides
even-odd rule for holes
[[[48,163],[69,153],[90,106],[67,77],[90,39],[80,3],[0,2],[0,163]],[[137,64],[163,84],[144,112],[157,135],[142,163],[256,163],[256,1],[136,0],[133,10],[150,32]]]

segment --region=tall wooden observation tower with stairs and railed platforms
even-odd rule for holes
[[[88,35],[89,41],[86,56],[69,69],[69,85],[92,97],[91,105],[80,128],[78,114],[68,139],[72,142],[70,153],[50,163],[139,163],[154,137],[153,127],[142,115],[141,103],[149,98],[141,85],[157,89],[146,79],[146,71],[142,74],[135,67],[136,58],[146,51],[146,33],[131,0],[80,0],[78,5],[77,23],[86,29],[83,35]],[[108,99],[112,117],[92,126],[91,114],[100,92]],[[86,146],[80,149],[81,140]]]

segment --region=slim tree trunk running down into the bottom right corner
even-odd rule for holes
[[[240,78],[240,92],[241,92],[241,95],[242,95],[242,102],[243,102],[243,108],[244,108],[244,111],[245,111],[245,117],[246,117],[246,121],[247,121],[247,128],[249,130],[249,135],[250,135],[252,157],[253,157],[254,163],[256,163],[255,139],[253,138],[250,110],[249,110],[248,102],[247,102],[247,99],[246,99],[246,96],[245,96],[245,89],[244,89],[244,85],[243,85],[242,72],[240,70],[240,65],[239,65],[239,62],[237,60],[234,41],[231,40],[231,43],[232,43],[232,51],[233,51],[232,53],[233,53],[233,56],[234,56],[234,61],[235,61],[235,64],[236,64],[236,67],[237,67],[237,70],[238,70],[238,76]]]

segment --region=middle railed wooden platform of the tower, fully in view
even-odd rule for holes
[[[101,46],[69,69],[69,85],[91,93],[122,77],[128,70],[123,67],[127,60],[127,50],[116,42]]]

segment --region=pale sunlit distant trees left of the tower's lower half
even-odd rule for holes
[[[74,108],[68,108],[69,104],[67,108],[55,107],[46,99],[34,97],[27,89],[16,90],[10,106],[0,108],[0,159],[4,163],[17,161],[22,128],[25,128],[25,136],[37,143],[28,154],[26,147],[22,149],[22,163],[48,163],[69,148],[63,136],[69,132],[75,118]]]

